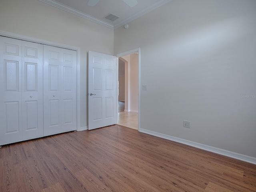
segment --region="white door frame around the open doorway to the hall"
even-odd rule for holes
[[[114,56],[116,56],[118,58],[118,57],[122,57],[125,55],[130,55],[133,53],[138,53],[138,131],[140,131],[140,48],[122,52],[122,53],[116,54]],[[116,69],[117,74],[116,75],[118,77],[118,59],[116,59],[116,61],[117,61],[117,69]],[[117,78],[117,81],[118,81],[118,78]],[[118,89],[118,87],[117,87],[117,89]],[[118,90],[116,90],[116,93],[118,94]],[[116,98],[118,98],[118,95]],[[116,104],[116,107],[117,107],[116,122],[118,122],[118,99],[116,102],[117,102],[117,104]]]

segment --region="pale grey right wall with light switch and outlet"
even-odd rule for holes
[[[255,20],[255,0],[173,0],[114,30],[114,54],[140,48],[140,128],[255,158]]]

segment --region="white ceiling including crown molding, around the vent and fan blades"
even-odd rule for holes
[[[88,6],[88,0],[39,0],[86,18],[108,28],[118,28],[140,16],[172,1],[172,0],[137,0],[138,4],[131,8],[122,0],[100,0],[95,6]],[[108,14],[114,14],[120,18],[111,22],[106,20]]]

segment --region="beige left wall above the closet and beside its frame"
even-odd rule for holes
[[[80,48],[80,126],[88,126],[87,54],[113,55],[113,30],[38,0],[1,1],[0,30]]]

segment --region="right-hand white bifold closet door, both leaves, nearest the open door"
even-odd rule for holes
[[[44,136],[76,130],[76,51],[44,45]]]

